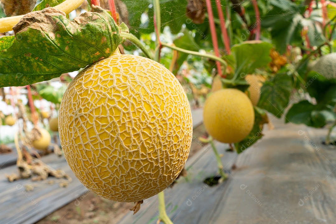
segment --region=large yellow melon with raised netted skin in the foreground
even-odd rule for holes
[[[134,202],[168,187],[185,165],[192,116],[163,65],[114,54],[80,72],[59,109],[59,136],[76,177],[91,191]]]

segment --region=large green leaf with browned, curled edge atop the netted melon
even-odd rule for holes
[[[0,87],[29,85],[77,71],[109,57],[120,43],[115,21],[98,6],[73,21],[54,8],[30,12],[13,30],[13,44],[0,51]]]

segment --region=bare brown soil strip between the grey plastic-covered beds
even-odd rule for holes
[[[189,158],[205,145],[204,143],[201,143],[196,136],[207,136],[203,124],[193,131],[193,141]],[[129,209],[133,206],[134,203],[111,201],[102,198],[93,192],[87,192],[68,205],[49,214],[36,224],[116,224],[127,213],[131,212]]]

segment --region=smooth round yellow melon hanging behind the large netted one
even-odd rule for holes
[[[252,102],[238,89],[217,90],[205,101],[203,123],[207,132],[217,141],[239,142],[253,128]]]

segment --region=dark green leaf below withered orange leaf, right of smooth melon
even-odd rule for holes
[[[258,107],[280,118],[289,103],[292,79],[286,73],[278,73],[270,81],[266,81],[260,91]]]

